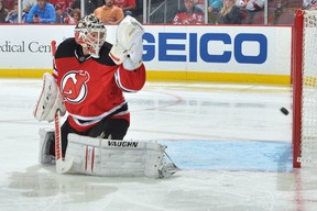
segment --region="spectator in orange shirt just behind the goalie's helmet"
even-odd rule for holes
[[[94,13],[103,24],[118,24],[124,18],[122,9],[114,5],[113,0],[105,0],[105,5],[97,8]]]

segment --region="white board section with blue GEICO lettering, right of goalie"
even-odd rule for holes
[[[157,70],[289,75],[291,27],[147,26],[144,62]]]

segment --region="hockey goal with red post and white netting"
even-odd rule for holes
[[[317,166],[317,11],[297,10],[292,54],[293,166]]]

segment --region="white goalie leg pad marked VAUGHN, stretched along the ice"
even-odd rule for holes
[[[156,142],[102,140],[70,133],[66,160],[73,157],[72,170],[86,175],[162,178],[176,171],[174,168],[165,174],[165,148]]]

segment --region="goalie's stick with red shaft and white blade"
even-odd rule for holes
[[[56,41],[51,42],[52,47],[52,55],[53,60],[56,52]],[[53,63],[53,69],[54,69],[54,63]],[[56,159],[56,171],[58,174],[67,173],[73,165],[74,158],[70,158],[68,160],[63,160],[62,157],[62,136],[61,136],[61,111],[57,110],[54,118],[54,124],[55,124],[55,159]]]

